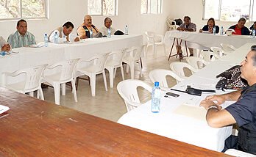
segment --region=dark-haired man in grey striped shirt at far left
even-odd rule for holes
[[[21,19],[17,23],[17,31],[14,34],[10,34],[7,42],[12,45],[12,48],[20,48],[26,45],[34,45],[35,36],[27,31],[27,23]]]

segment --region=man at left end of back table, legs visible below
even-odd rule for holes
[[[188,31],[188,32],[196,32],[196,24],[191,23],[191,18],[188,16],[184,17],[184,23],[182,23],[177,30],[179,31]],[[182,58],[182,49],[180,46],[176,46],[176,49],[179,48],[179,56]],[[190,52],[190,56],[193,56],[193,48],[188,48]]]

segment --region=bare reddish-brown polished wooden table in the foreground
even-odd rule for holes
[[[228,156],[0,87],[0,156]]]

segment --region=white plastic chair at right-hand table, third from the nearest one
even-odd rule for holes
[[[181,78],[188,78],[185,76],[184,67],[187,67],[189,70],[191,70],[192,74],[198,71],[196,68],[192,67],[187,62],[171,62],[170,67],[171,70],[173,70],[174,73],[176,73]]]

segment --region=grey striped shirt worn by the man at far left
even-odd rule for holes
[[[8,43],[12,45],[12,48],[20,48],[26,45],[35,45],[35,36],[32,33],[26,32],[24,37],[16,31],[14,34],[10,34],[8,37]]]

